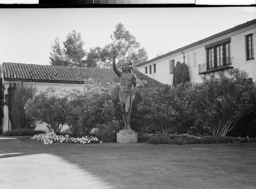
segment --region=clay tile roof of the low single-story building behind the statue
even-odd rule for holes
[[[133,73],[140,80],[154,86],[161,85],[138,70]],[[119,82],[113,69],[102,68],[3,63],[3,74],[6,81],[83,84],[85,79],[93,78],[97,82]]]

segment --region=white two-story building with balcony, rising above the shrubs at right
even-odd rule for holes
[[[246,71],[256,82],[256,19],[168,52],[137,65],[137,69],[163,84],[173,84],[177,62],[188,66],[190,82],[230,75],[233,68]]]

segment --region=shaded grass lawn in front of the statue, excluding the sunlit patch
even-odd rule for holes
[[[100,178],[104,183],[111,185],[111,188],[254,188],[256,186],[255,142],[197,145],[147,143],[44,145],[42,142],[31,140],[30,137],[15,138],[18,140],[0,139],[0,153],[20,154],[7,154],[0,158],[43,153],[56,155],[78,166],[84,172]],[[72,183],[67,181],[67,184],[67,188],[72,187]]]

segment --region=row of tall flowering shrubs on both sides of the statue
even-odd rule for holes
[[[138,80],[131,126],[146,133],[161,132],[166,138],[172,133],[186,132],[226,136],[239,119],[256,112],[256,87],[247,77],[248,74],[234,70],[231,78],[223,76],[176,87],[152,87]],[[82,89],[50,87],[36,94],[27,103],[26,111],[35,120],[46,122],[57,134],[66,123],[72,137],[89,136],[96,128],[95,134],[101,140],[114,142],[116,132],[123,127],[118,94],[119,84],[88,79]],[[255,115],[251,117],[256,120]],[[179,143],[179,139],[175,140]],[[195,138],[187,141],[198,142]]]

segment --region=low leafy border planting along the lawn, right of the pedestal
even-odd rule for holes
[[[212,136],[191,136],[189,134],[173,134],[169,137],[153,136],[148,140],[149,144],[221,144],[221,143],[243,143],[256,142],[256,138],[232,138],[232,137],[212,137]]]

